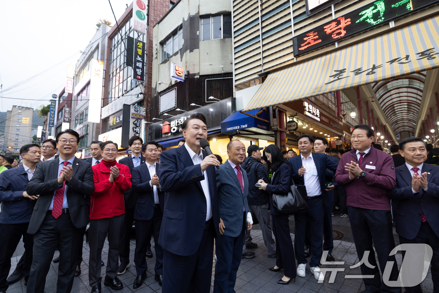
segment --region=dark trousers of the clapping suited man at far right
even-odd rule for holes
[[[428,222],[421,223],[421,228],[414,239],[407,239],[399,236],[399,242],[403,243],[426,243],[433,249],[433,257],[431,261],[433,292],[439,292],[439,237],[435,234]],[[403,251],[403,257],[405,255]],[[403,280],[404,281],[404,280]],[[422,293],[421,284],[414,287],[405,287],[407,293]]]

